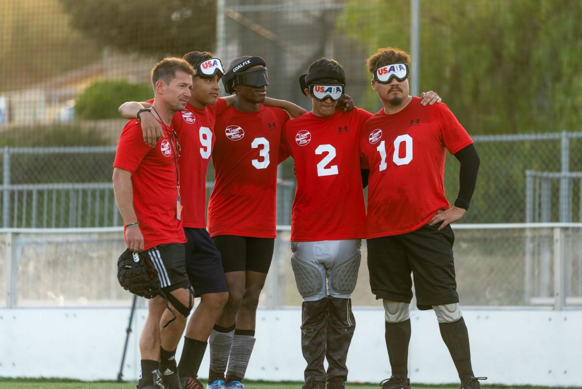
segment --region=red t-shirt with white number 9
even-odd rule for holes
[[[216,115],[226,109],[219,98],[217,104],[204,109],[186,104],[186,109],[176,112],[172,125],[182,148],[180,154],[180,194],[184,227],[206,228],[206,172],[214,148]]]

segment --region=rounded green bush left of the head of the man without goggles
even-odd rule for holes
[[[126,101],[145,101],[153,96],[148,84],[126,81],[97,81],[77,98],[75,114],[79,119],[119,118],[118,107]]]

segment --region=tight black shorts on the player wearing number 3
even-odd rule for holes
[[[222,254],[225,273],[246,270],[269,273],[275,249],[274,238],[217,235],[212,239]]]

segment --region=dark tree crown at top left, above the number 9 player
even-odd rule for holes
[[[60,1],[73,26],[100,45],[158,57],[214,48],[215,0]]]

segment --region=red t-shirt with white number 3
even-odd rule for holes
[[[217,116],[210,236],[275,238],[279,143],[288,120],[283,109],[265,105],[257,112],[229,107]]]

